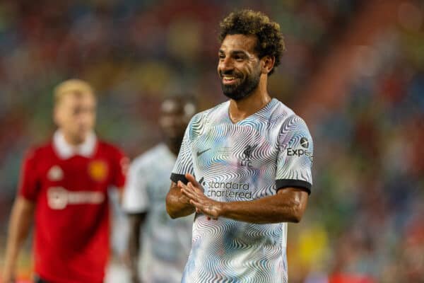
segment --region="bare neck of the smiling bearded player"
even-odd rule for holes
[[[230,120],[233,123],[240,122],[264,108],[269,101],[271,101],[271,96],[266,91],[266,83],[264,85],[264,82],[261,82],[257,89],[246,98],[230,100],[230,108],[228,109]]]

